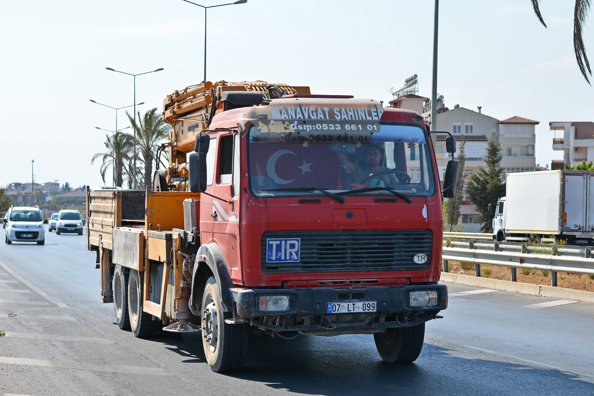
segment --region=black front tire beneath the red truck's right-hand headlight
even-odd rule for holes
[[[425,324],[387,329],[373,335],[381,359],[388,363],[412,363],[419,357],[425,339]]]

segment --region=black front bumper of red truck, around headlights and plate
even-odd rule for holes
[[[413,291],[435,290],[437,305],[411,307],[409,294]],[[374,332],[386,328],[407,327],[435,319],[437,313],[447,308],[447,286],[443,284],[377,286],[362,289],[231,289],[236,303],[236,314],[258,327],[274,331],[318,332]],[[266,295],[289,296],[289,309],[283,312],[258,311],[258,297]],[[377,302],[377,312],[355,313],[360,321],[341,321],[343,313],[328,313],[328,303]],[[302,321],[301,318],[312,318]],[[279,318],[270,321],[270,318]],[[338,320],[337,320],[338,319]],[[299,322],[299,323],[297,323]],[[326,322],[331,323],[328,329]]]

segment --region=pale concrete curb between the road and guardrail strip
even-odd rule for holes
[[[441,281],[485,287],[486,289],[504,290],[505,292],[532,294],[533,296],[553,297],[568,300],[580,300],[594,303],[594,293],[584,290],[564,289],[563,287],[542,286],[532,283],[518,283],[508,280],[473,277],[470,275],[441,273]]]

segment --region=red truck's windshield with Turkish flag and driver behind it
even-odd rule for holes
[[[249,128],[249,180],[255,195],[322,195],[319,189],[333,194],[362,190],[357,196],[392,195],[388,189],[407,197],[435,194],[431,150],[421,125],[305,127],[297,132],[266,123]]]

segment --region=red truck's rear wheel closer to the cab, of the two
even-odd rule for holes
[[[150,338],[159,334],[161,321],[153,321],[153,315],[143,311],[143,282],[137,270],[128,275],[128,316],[130,329],[138,338]]]

